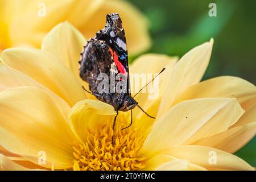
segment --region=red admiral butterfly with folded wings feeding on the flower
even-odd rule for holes
[[[137,94],[131,97],[125,31],[122,27],[122,20],[117,13],[106,15],[105,27],[98,31],[94,38],[88,40],[88,43],[84,46],[84,51],[81,53],[79,64],[80,77],[89,83],[91,91],[85,89],[86,92],[92,93],[98,100],[112,105],[117,111],[113,129],[118,111],[131,110],[129,126],[133,122],[132,109],[135,106],[146,113],[134,100]],[[102,78],[104,76],[108,78],[106,79],[108,86],[102,88]],[[114,82],[111,81],[113,78]],[[118,88],[119,92],[117,92]],[[151,116],[148,115],[148,117]]]

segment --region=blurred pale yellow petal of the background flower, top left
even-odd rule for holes
[[[75,6],[74,3],[75,0],[24,1],[26,8],[23,7],[22,12],[16,13],[13,22],[11,22],[10,36],[13,46],[30,43],[39,48],[47,32],[68,18],[73,6]]]

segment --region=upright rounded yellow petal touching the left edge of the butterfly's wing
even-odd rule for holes
[[[42,43],[42,50],[56,56],[74,73],[77,80],[81,80],[79,60],[85,43],[84,36],[71,24],[65,22],[58,24],[46,35]]]

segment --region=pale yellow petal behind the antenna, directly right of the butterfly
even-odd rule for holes
[[[177,62],[177,57],[170,57],[167,55],[158,55],[148,53],[138,57],[134,60],[134,63],[131,64],[130,67],[130,80],[131,80],[131,90],[139,91],[147,82],[150,82],[155,75],[157,75],[163,68],[166,68],[163,73],[159,75],[159,94],[158,97],[161,97],[163,94],[164,86],[166,86],[168,80],[171,78],[172,70]],[[149,79],[143,82],[143,75],[148,77]],[[132,77],[133,76],[133,77]],[[141,76],[141,77],[140,77]],[[133,78],[133,80],[132,80]],[[137,79],[137,80],[136,80]],[[138,83],[139,82],[139,83]],[[149,87],[149,86],[148,86]],[[148,91],[148,87],[144,88],[138,95],[135,97],[136,100],[140,103],[141,106],[146,106],[150,102],[155,101],[156,99],[152,99],[148,97],[151,93]],[[134,89],[133,89],[134,88]],[[133,94],[137,93],[134,92]],[[157,98],[158,98],[157,97]]]

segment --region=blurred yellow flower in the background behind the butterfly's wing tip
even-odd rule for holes
[[[64,20],[91,38],[105,25],[106,14],[115,12],[122,17],[129,53],[137,54],[150,47],[146,18],[126,1],[1,0],[0,53],[1,49],[16,46],[40,48],[44,36]]]

